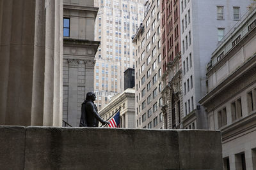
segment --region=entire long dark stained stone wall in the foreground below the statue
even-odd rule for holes
[[[222,168],[220,131],[0,127],[3,169]]]

